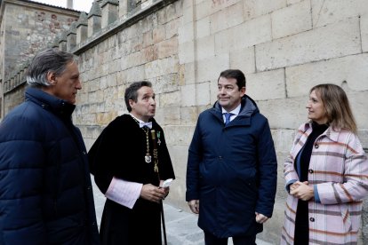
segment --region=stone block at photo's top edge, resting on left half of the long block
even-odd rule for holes
[[[272,12],[272,37],[291,36],[312,28],[310,2],[302,1]]]

